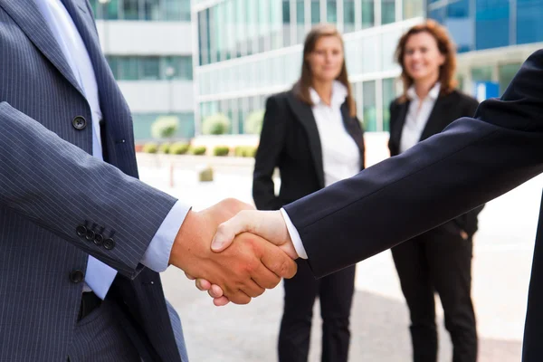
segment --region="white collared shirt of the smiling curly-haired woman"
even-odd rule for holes
[[[404,128],[402,129],[402,138],[400,138],[400,152],[414,147],[423,135],[424,127],[430,118],[435,100],[439,97],[441,85],[435,83],[432,90],[424,100],[420,100],[414,91],[414,86],[407,90],[407,98],[411,100],[409,109],[405,116]]]

